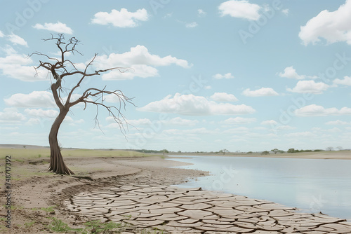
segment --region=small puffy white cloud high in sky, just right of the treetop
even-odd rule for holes
[[[111,24],[114,27],[137,27],[139,21],[147,21],[148,19],[149,15],[144,8],[135,12],[129,12],[126,8],[121,8],[121,11],[113,9],[111,13],[100,11],[94,15],[91,22],[98,25]]]

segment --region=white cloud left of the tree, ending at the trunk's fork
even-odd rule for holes
[[[48,91],[34,91],[28,95],[16,93],[4,101],[6,105],[14,107],[56,107],[53,95]]]

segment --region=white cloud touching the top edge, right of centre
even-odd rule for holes
[[[218,6],[218,9],[221,16],[230,15],[234,18],[243,18],[246,20],[258,20],[260,18],[260,6],[250,4],[246,0],[225,1]]]

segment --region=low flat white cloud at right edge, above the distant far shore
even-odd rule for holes
[[[295,111],[296,116],[343,116],[351,115],[351,108],[343,107],[340,110],[336,107],[325,109],[323,106],[311,104],[303,106]]]

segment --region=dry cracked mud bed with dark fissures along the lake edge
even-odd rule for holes
[[[158,228],[166,233],[351,233],[351,223],[322,213],[305,214],[274,202],[201,188],[130,180],[78,193],[64,205],[69,212],[88,219]]]

